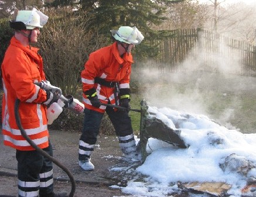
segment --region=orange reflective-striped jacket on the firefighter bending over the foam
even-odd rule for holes
[[[94,78],[100,77],[105,81],[119,82],[120,89],[129,88],[132,63],[134,61],[131,53],[125,53],[123,57],[120,57],[116,42],[94,51],[90,54],[88,61],[84,64],[84,70],[81,72],[83,92],[95,88],[98,99],[102,103],[110,101],[111,104],[115,104],[114,88],[97,84],[94,82]],[[117,102],[119,103],[119,101]],[[85,94],[83,94],[83,103],[86,108],[101,113],[104,113],[106,108],[104,105],[101,105],[100,108],[95,108]]]

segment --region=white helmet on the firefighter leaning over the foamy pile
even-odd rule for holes
[[[121,26],[118,30],[110,30],[115,40],[128,44],[139,44],[144,36],[136,27]]]

